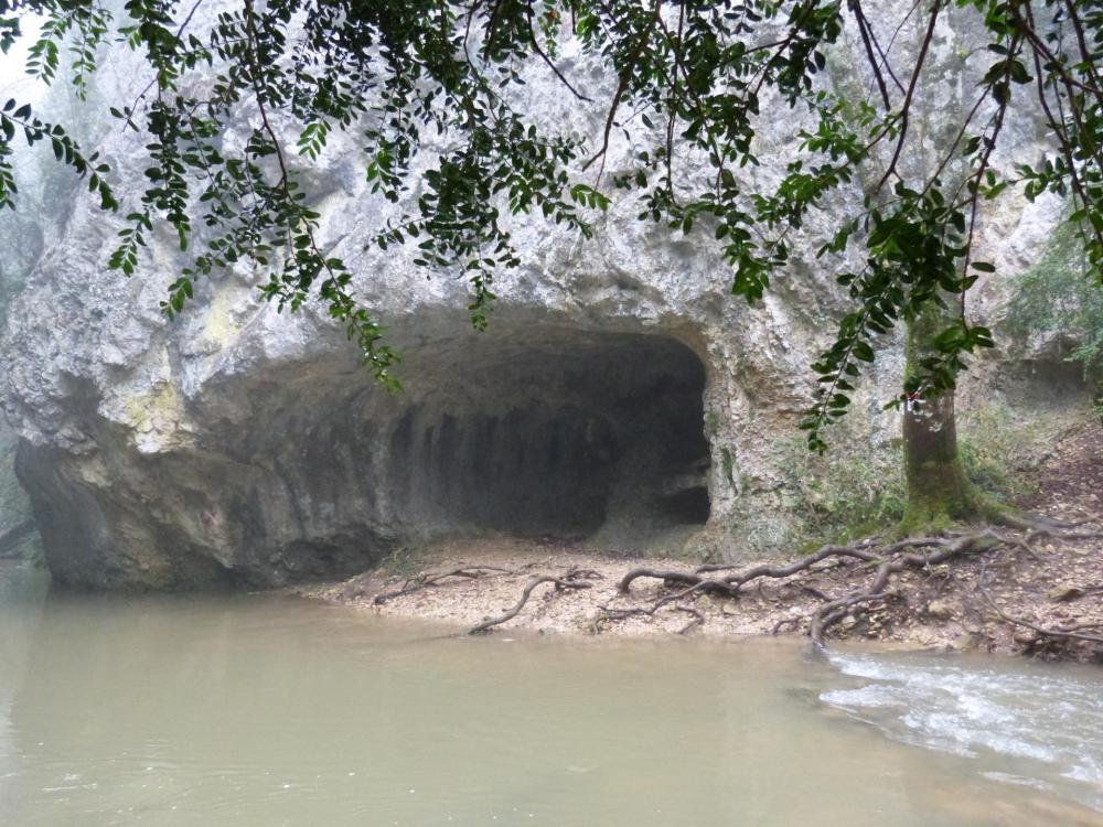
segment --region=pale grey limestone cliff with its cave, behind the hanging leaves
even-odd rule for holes
[[[966,94],[966,41],[940,34],[954,94]],[[845,74],[856,61],[840,49],[833,63]],[[569,51],[563,68],[593,71]],[[128,72],[141,76],[108,67],[115,82]],[[604,112],[578,108],[554,84],[534,68],[529,110],[599,131]],[[936,111],[943,92],[927,89],[923,105]],[[788,160],[796,126],[795,115],[764,126],[761,181]],[[1035,146],[1032,128],[1008,126]],[[101,149],[122,176],[117,189],[136,197],[135,147],[115,136]],[[635,149],[614,144],[607,171]],[[845,307],[824,265],[797,255],[767,300],[748,308],[728,296],[707,232],[687,239],[641,223],[627,202],[599,218],[588,243],[522,218],[513,232],[524,262],[502,275],[490,330],[475,333],[463,282],[427,280],[409,250],[363,249],[387,213],[363,183],[360,158],[339,139],[303,174],[328,248],[358,273],[357,294],[405,356],[399,395],[373,383],[321,309],[288,316],[259,303],[260,275],[244,267],[205,283],[168,322],[158,303],[184,264],[171,238],[154,239],[127,281],[104,267],[111,221],[84,200],[60,216],[58,238],[10,313],[0,379],[55,579],[283,583],[363,569],[400,545],[483,533],[728,559],[786,550],[780,448],[797,439],[814,384],[807,365]],[[1052,205],[999,208],[983,224],[989,249],[1025,226],[1043,237],[1057,217]],[[832,221],[814,217],[805,237],[822,237]],[[1030,260],[1028,248],[1000,255],[1011,270]],[[897,436],[896,415],[877,404],[896,393],[891,351],[868,377],[844,443]]]

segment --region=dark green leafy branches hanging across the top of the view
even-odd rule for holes
[[[538,211],[589,237],[590,213],[610,203],[602,186],[634,192],[642,219],[687,235],[704,229],[730,265],[731,292],[753,303],[786,266],[791,230],[813,212],[837,211],[835,194],[860,186],[863,206],[832,213],[837,229],[820,250],[828,264],[864,262],[853,271],[837,265],[854,309],[813,365],[821,390],[802,427],[821,451],[824,427],[848,410],[880,337],[945,305],[946,296],[964,299],[978,275],[993,271],[972,255],[982,200],[1013,186],[1030,198],[1068,197],[1091,277],[1103,273],[1103,0],[923,0],[900,22],[915,25],[919,43],[906,63],[881,42],[860,0],[244,0],[196,29],[202,2],[128,0],[114,21],[94,0],[0,0],[0,49],[21,36],[28,14],[42,15],[28,68],[50,82],[67,49],[78,90],[101,44],[143,53],[149,86],[113,114],[148,136],[148,183],[140,203],[126,207],[110,266],[131,275],[153,229],[171,227],[191,259],[165,314],[183,310],[196,279],[253,261],[268,272],[265,298],[292,311],[323,301],[392,386],[397,354],[355,298],[350,268],[323,249],[320,216],[289,164],[291,151],[317,160],[334,131],[357,136],[373,192],[403,211],[365,243],[411,244],[420,266],[463,273],[480,329],[495,278],[520,262],[510,214]],[[944,157],[913,169],[915,90],[954,6],[983,23],[986,68]],[[865,50],[868,96],[831,89],[820,77],[845,26]],[[595,136],[533,122],[514,103],[512,90],[533,66],[554,75],[565,95],[595,103],[600,85],[580,88],[557,65],[568,39],[615,82]],[[759,164],[761,119],[777,117],[761,107],[775,109],[777,100],[811,126],[780,180],[756,191],[741,170]],[[993,159],[1013,106],[1043,115],[1056,151],[1003,170]],[[61,127],[34,120],[25,106],[12,101],[7,111],[0,204],[13,204],[10,150],[21,130],[28,142],[50,140],[105,208],[118,207],[95,155],[85,158]],[[222,137],[242,120],[248,140],[229,152]],[[607,181],[614,130],[646,148]],[[427,151],[430,135],[442,140]],[[688,154],[707,159],[715,174],[690,179],[678,163]],[[967,355],[992,346],[961,305],[898,402],[953,388]]]

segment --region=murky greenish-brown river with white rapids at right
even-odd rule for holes
[[[1103,825],[1103,672],[0,569],[0,825]]]

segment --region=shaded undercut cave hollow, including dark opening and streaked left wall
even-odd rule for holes
[[[600,529],[634,545],[708,517],[705,370],[673,337],[503,322],[407,345],[398,396],[333,347],[191,397],[157,385],[129,425],[89,414],[79,454],[25,445],[55,574],[285,582],[433,537]]]

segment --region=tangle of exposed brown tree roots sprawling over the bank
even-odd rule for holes
[[[793,611],[775,622],[767,631],[779,634],[783,631],[804,630],[811,637],[816,649],[826,645],[833,630],[843,623],[853,627],[859,614],[877,606],[897,604],[897,614],[914,614],[923,610],[913,605],[914,584],[909,589],[900,576],[911,572],[912,578],[921,582],[950,582],[954,579],[955,566],[961,569],[966,558],[979,561],[979,574],[976,574],[976,563],[964,573],[964,581],[972,578],[972,593],[978,597],[974,601],[974,613],[979,606],[982,614],[988,619],[998,619],[1031,634],[1029,640],[1017,635],[1016,640],[1042,654],[1060,656],[1062,645],[1084,645],[1100,647],[1103,652],[1103,622],[1067,622],[1049,624],[1037,619],[1022,616],[999,605],[988,589],[986,577],[989,570],[1007,569],[1016,557],[1025,565],[1030,561],[1043,560],[1042,551],[1036,544],[1041,540],[1050,543],[1073,543],[1084,539],[1099,539],[1101,535],[1093,531],[1059,530],[1052,525],[1031,523],[1034,527],[1026,531],[997,530],[985,527],[970,533],[945,534],[941,536],[912,537],[896,543],[880,543],[877,539],[866,539],[859,543],[837,546],[824,546],[820,550],[789,563],[761,563],[739,568],[736,566],[702,566],[696,570],[679,570],[673,567],[641,566],[629,570],[619,580],[617,573],[602,574],[583,566],[570,566],[559,573],[542,573],[538,562],[527,562],[520,566],[461,565],[436,573],[422,573],[407,578],[401,586],[392,590],[376,590],[371,602],[382,606],[399,598],[410,598],[419,592],[436,590],[441,595],[451,592],[450,587],[459,588],[469,584],[475,588],[479,582],[494,580],[497,594],[507,593],[504,590],[508,583],[523,576],[526,570],[537,569],[529,577],[520,597],[501,614],[483,615],[482,619],[468,629],[468,634],[483,634],[517,617],[526,606],[532,604],[534,594],[543,586],[552,586],[544,590],[543,600],[536,610],[536,615],[547,614],[565,594],[589,590],[597,581],[615,580],[615,590],[603,589],[596,599],[580,605],[579,614],[585,614],[576,624],[577,629],[590,634],[601,634],[610,631],[617,624],[631,620],[658,620],[658,615],[674,613],[684,615],[687,621],[676,629],[670,629],[676,634],[686,635],[696,630],[708,627],[715,617],[732,615],[745,609],[741,603],[763,599],[774,604],[791,605]],[[1077,528],[1070,525],[1070,528]],[[1051,548],[1052,546],[1048,546]],[[550,563],[552,558],[544,563]],[[836,583],[835,588],[825,587],[821,580],[828,579]],[[633,592],[633,586],[645,581],[660,581],[661,591],[645,601],[640,601]],[[768,590],[763,598],[763,587],[777,583]],[[839,593],[838,586],[844,590]],[[464,587],[468,588],[468,587]],[[354,590],[355,593],[351,593]],[[941,587],[939,587],[941,590]],[[828,593],[834,592],[834,595]],[[617,600],[603,599],[603,593],[613,594]],[[1051,601],[1071,602],[1089,597],[1103,594],[1103,586],[1068,587],[1056,590],[1050,595]],[[343,600],[366,598],[366,581],[354,579],[346,584],[341,594]],[[490,598],[484,598],[490,599]],[[810,602],[814,601],[814,602]],[[716,608],[720,606],[718,615]],[[711,610],[711,614],[709,613]],[[529,611],[527,614],[532,614]]]

